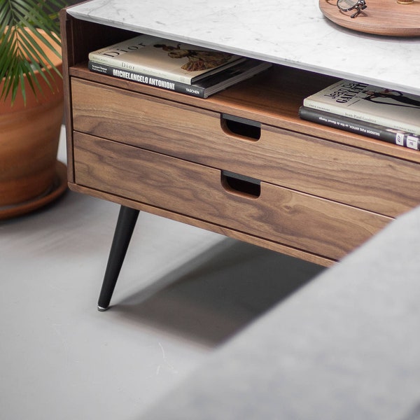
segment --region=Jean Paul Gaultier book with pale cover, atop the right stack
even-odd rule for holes
[[[304,106],[420,134],[420,96],[340,80],[304,99]]]

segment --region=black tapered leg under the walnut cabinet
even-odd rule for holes
[[[127,248],[130,244],[130,239],[132,237],[138,216],[139,210],[121,206],[120,214],[118,214],[116,231],[111,245],[111,251],[109,253],[108,264],[106,265],[104,281],[99,295],[99,311],[106,311],[109,307],[109,302],[111,302],[111,297],[113,290],[116,287],[118,275],[120,274],[121,267],[123,267],[125,254],[127,253]]]

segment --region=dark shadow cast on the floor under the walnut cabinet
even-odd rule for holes
[[[322,270],[309,262],[226,239],[118,302],[111,311],[214,347]]]

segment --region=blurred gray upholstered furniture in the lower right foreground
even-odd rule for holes
[[[262,316],[144,415],[420,419],[420,209]]]

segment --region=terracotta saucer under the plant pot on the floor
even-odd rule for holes
[[[38,195],[33,200],[23,202],[20,204],[15,204],[13,206],[3,206],[0,207],[0,220],[6,218],[12,218],[15,216],[21,216],[22,214],[29,213],[40,209],[46,204],[50,204],[54,200],[62,195],[67,189],[67,167],[64,163],[57,160],[56,169],[55,169],[55,180],[52,183],[52,186],[48,188],[45,193]]]

